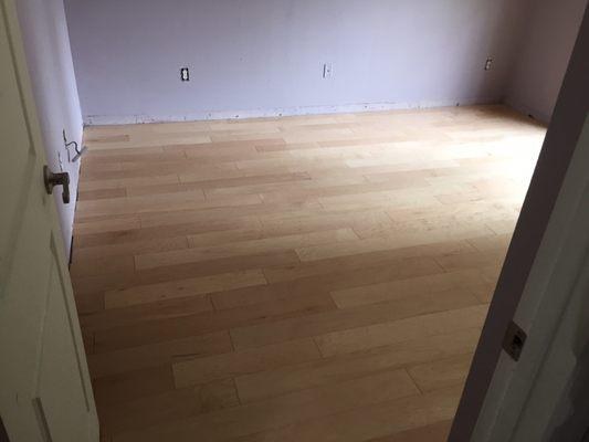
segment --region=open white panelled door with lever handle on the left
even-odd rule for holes
[[[0,415],[11,442],[95,442],[94,398],[44,187],[14,0],[0,0]]]

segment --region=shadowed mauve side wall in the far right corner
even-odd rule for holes
[[[507,103],[549,122],[587,0],[536,0],[508,87]]]

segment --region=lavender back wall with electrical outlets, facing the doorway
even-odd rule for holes
[[[497,102],[525,3],[66,0],[66,10],[86,120],[128,123]]]

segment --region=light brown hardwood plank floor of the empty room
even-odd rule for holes
[[[544,135],[498,106],[86,129],[104,440],[445,440]]]

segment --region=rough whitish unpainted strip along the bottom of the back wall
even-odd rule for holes
[[[481,99],[448,99],[448,101],[423,101],[414,103],[365,103],[346,104],[337,106],[302,106],[284,107],[272,109],[248,109],[248,110],[213,110],[196,112],[171,115],[87,115],[84,123],[87,126],[103,125],[126,125],[145,123],[177,123],[177,122],[199,122],[217,119],[246,119],[246,118],[271,118],[282,116],[322,115],[322,114],[348,114],[360,112],[420,109],[432,107],[462,106],[473,104],[497,104],[496,98]]]

